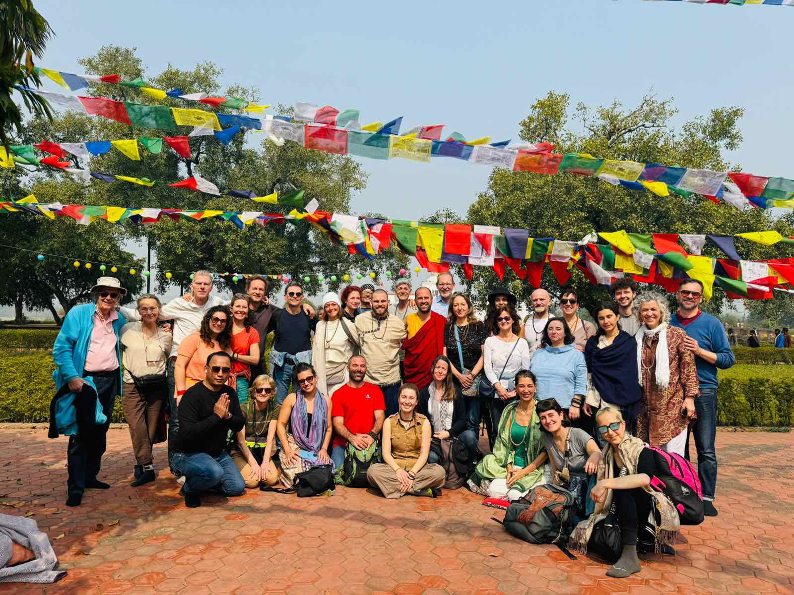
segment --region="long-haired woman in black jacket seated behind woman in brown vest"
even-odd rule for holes
[[[438,355],[430,370],[433,382],[419,391],[418,411],[430,420],[434,440],[450,443],[457,438],[466,446],[468,460],[473,461],[476,457],[478,436],[476,430],[468,429],[466,401],[460,386],[453,382],[449,359]],[[441,447],[441,453],[448,451],[448,448]],[[447,463],[438,456],[437,448],[432,445],[427,460],[443,466]]]

